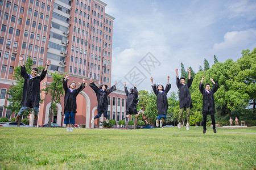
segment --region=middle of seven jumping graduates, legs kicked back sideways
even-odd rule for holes
[[[125,94],[126,94],[126,117],[130,118],[131,114],[134,114],[135,117],[138,117],[140,113],[144,113],[141,109],[137,112],[137,104],[139,103],[138,91],[136,84],[133,85],[133,88],[130,89],[130,93],[127,90],[126,82],[125,85]]]

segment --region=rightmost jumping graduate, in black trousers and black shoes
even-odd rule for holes
[[[201,94],[203,95],[203,133],[206,132],[206,121],[207,121],[207,114],[210,114],[210,117],[212,118],[212,129],[213,132],[216,133],[216,126],[215,126],[215,107],[214,107],[214,92],[218,90],[218,84],[216,84],[212,78],[210,80],[213,83],[212,90],[210,90],[210,84],[203,84],[204,76],[201,79],[201,82],[199,84],[199,90]]]

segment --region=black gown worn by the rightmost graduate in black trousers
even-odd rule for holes
[[[204,84],[199,84],[199,90],[203,95],[203,114],[210,114],[213,115],[215,113],[214,109],[214,92],[218,90],[218,84],[213,84],[212,90],[208,93],[205,88]]]

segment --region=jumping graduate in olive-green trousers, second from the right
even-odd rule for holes
[[[181,117],[184,112],[184,110],[187,113],[187,130],[189,130],[189,114],[190,109],[193,107],[192,105],[192,99],[189,92],[189,87],[191,87],[191,84],[193,82],[193,78],[191,77],[191,70],[188,69],[188,83],[185,84],[185,78],[181,77],[179,78],[179,75],[177,74],[178,69],[175,70],[176,72],[176,84],[177,88],[179,88],[179,97],[180,97],[180,113],[179,113],[179,124],[178,128],[181,128]]]

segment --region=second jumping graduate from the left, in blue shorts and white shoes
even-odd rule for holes
[[[64,124],[67,126],[67,132],[73,131],[75,124],[75,113],[76,113],[76,97],[84,89],[85,79],[82,79],[82,84],[79,88],[76,88],[76,83],[72,82],[68,87],[68,74],[63,79],[63,88],[65,91],[64,96]],[[76,88],[76,89],[75,89]]]

